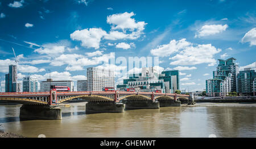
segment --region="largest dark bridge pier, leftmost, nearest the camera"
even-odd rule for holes
[[[20,120],[27,119],[61,119],[61,108],[49,105],[22,105]]]

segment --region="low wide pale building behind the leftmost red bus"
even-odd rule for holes
[[[74,92],[74,82],[73,81],[52,81],[47,79],[47,81],[40,82],[40,92],[49,92],[51,85],[55,86],[68,86],[69,92]]]

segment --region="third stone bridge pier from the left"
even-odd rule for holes
[[[152,100],[126,100],[125,109],[159,109],[159,102]]]

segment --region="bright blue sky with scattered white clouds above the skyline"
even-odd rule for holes
[[[218,59],[234,57],[241,70],[256,70],[255,7],[246,0],[1,0],[2,92],[15,64],[12,48],[19,81],[45,81],[51,72],[53,80],[76,84],[86,68],[110,67],[122,84],[142,67],[129,67],[129,57],[157,57],[160,70],[180,71],[180,89],[202,91]]]

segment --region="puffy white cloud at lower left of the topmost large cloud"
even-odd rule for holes
[[[70,37],[72,40],[81,41],[81,45],[87,48],[100,48],[100,41],[103,36],[106,35],[106,31],[101,28],[88,28],[84,30],[76,30]]]

